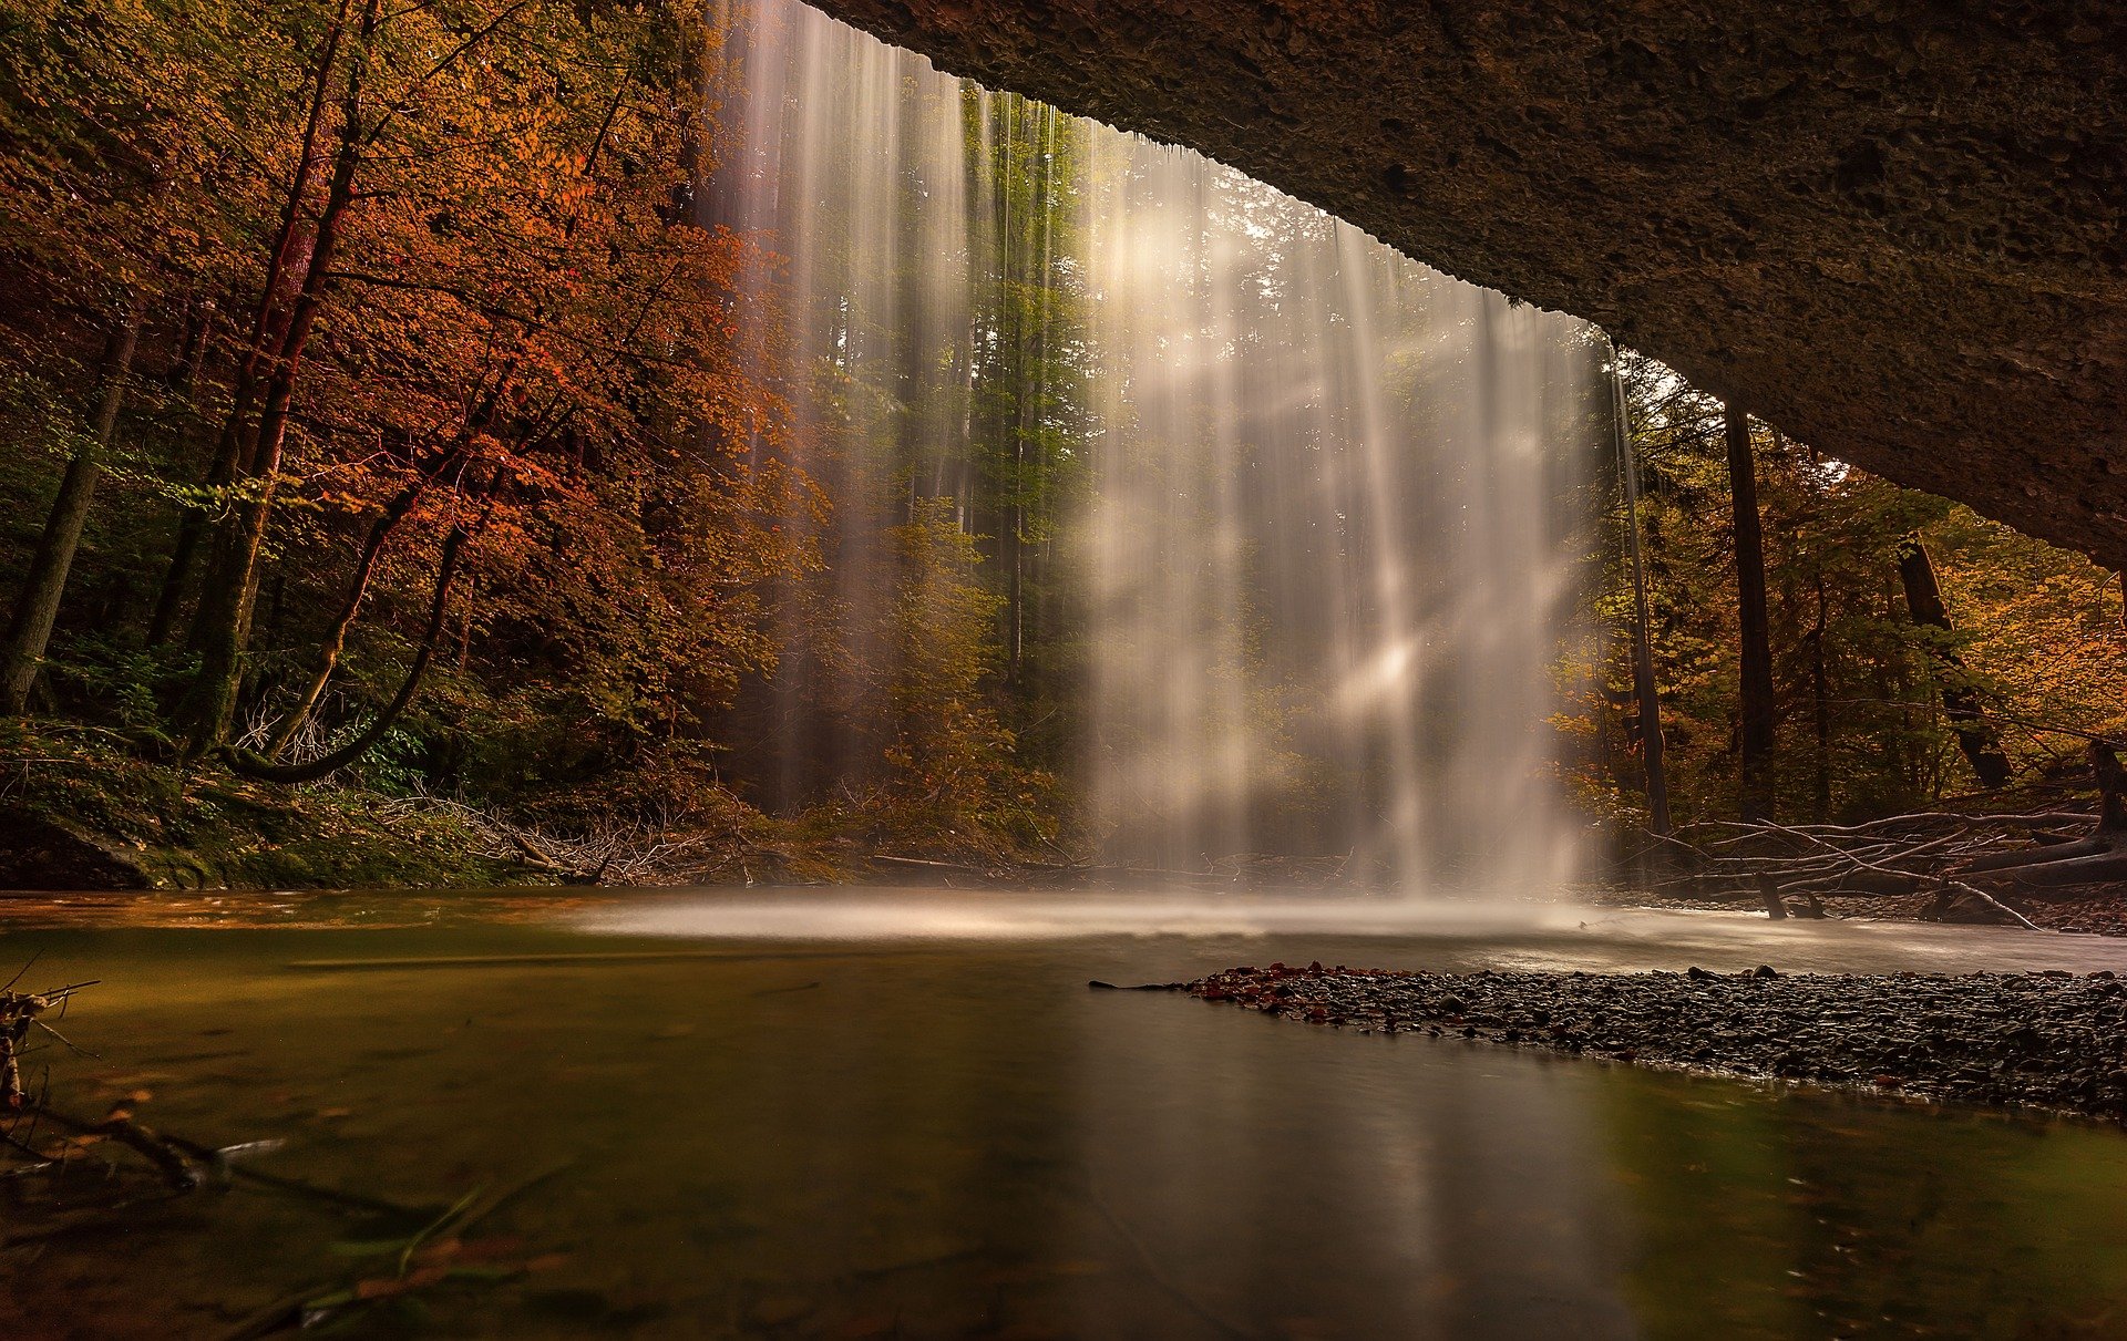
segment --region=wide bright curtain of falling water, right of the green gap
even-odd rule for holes
[[[1600,423],[1587,327],[1195,153],[1100,132],[1089,157],[1112,854],[1565,880],[1548,718]]]

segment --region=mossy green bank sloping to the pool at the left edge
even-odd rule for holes
[[[525,884],[455,814],[136,757],[94,729],[0,727],[0,888]]]

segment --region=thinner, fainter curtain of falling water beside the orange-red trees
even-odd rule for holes
[[[747,342],[789,404],[791,465],[819,506],[785,519],[819,550],[819,580],[776,599],[778,672],[749,757],[772,808],[878,769],[895,661],[893,529],[921,499],[974,512],[983,431],[972,368],[976,274],[993,264],[981,157],[989,106],[972,85],[789,0],[736,0],[713,26],[717,136],[704,221],[757,242],[740,278]]]

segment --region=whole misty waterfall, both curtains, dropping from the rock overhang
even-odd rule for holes
[[[1108,863],[1572,873],[1548,718],[1606,423],[1585,325],[795,0],[717,32],[708,208],[783,257],[744,298],[783,321],[857,644],[778,674],[789,769],[861,767],[864,723],[819,703],[872,665],[893,527],[944,510],[1004,608],[1000,674],[1066,684]],[[789,642],[821,616],[795,604]]]

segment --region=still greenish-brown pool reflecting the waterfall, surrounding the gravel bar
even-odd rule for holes
[[[559,1169],[468,1233],[538,1271],[347,1335],[2127,1332],[2110,1128],[1085,990],[1317,956],[2127,967],[2121,944],[912,893],[257,907],[26,903],[0,958],[104,980],[68,1029],[98,1056],[53,1058],[77,1109],[149,1092],[143,1120],[285,1137],[262,1167],[421,1205]],[[0,1335],[217,1337],[359,1267],[362,1226],[249,1188],[125,1226],[0,1252]]]

